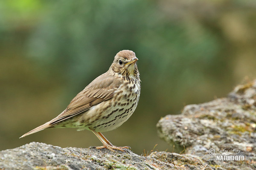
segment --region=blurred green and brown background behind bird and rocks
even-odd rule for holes
[[[140,102],[105,136],[138,154],[155,144],[178,152],[157,136],[161,117],[256,77],[256,1],[0,1],[0,150],[101,146],[86,130],[18,138],[61,113],[123,49],[139,58]]]

